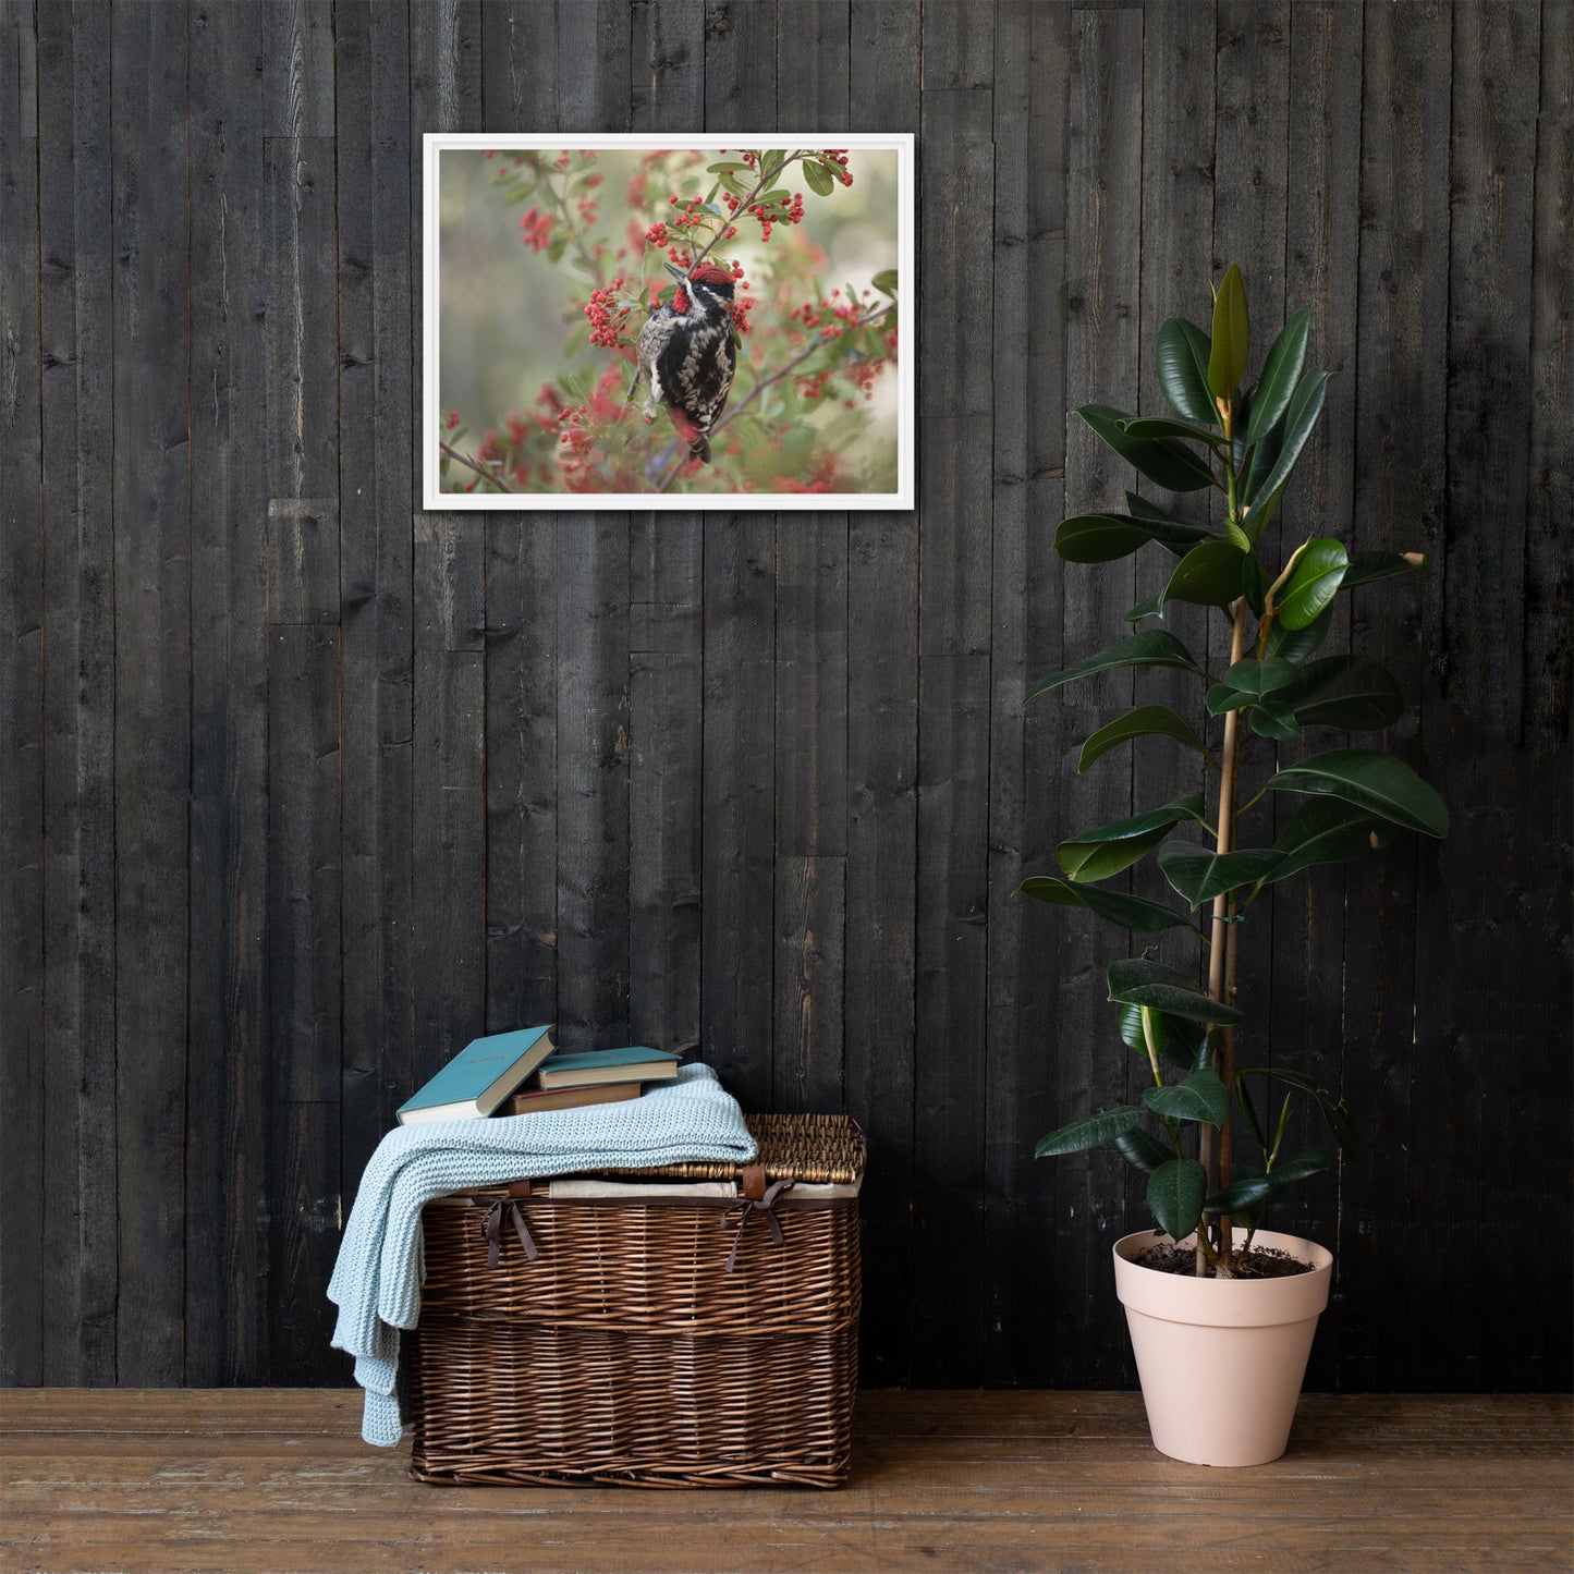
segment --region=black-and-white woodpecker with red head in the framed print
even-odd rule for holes
[[[689,453],[710,464],[710,433],[721,420],[738,368],[732,342],[732,274],[702,263],[686,274],[663,263],[678,282],[672,301],[650,313],[639,331],[639,376],[650,384],[645,419],[655,420],[653,403],[672,411]]]

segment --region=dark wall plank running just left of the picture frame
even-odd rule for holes
[[[409,33],[335,11],[340,334],[343,1176],[414,1091],[412,142]]]

